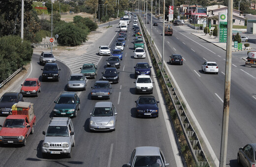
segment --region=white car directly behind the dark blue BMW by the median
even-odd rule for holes
[[[153,83],[149,75],[139,75],[136,82],[136,93],[153,93]]]

